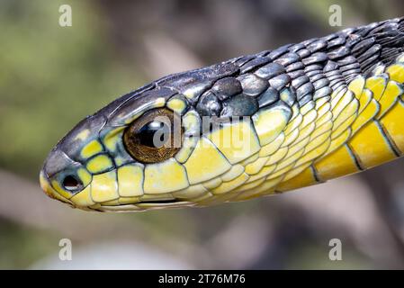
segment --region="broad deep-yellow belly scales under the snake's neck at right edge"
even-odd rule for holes
[[[310,169],[284,183],[285,190],[353,174],[399,157],[404,151],[402,83],[404,61],[387,67],[384,73],[380,71],[380,75],[355,78],[348,89],[355,94],[359,107],[354,121],[346,128],[353,136],[343,141],[340,148],[320,157]]]

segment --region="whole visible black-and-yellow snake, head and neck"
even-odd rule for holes
[[[165,76],[78,122],[42,190],[85,211],[274,195],[404,153],[404,17]]]

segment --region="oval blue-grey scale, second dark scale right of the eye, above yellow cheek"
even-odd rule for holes
[[[220,117],[251,116],[257,111],[258,102],[255,97],[238,94],[223,102]]]

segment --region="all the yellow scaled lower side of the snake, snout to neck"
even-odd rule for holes
[[[224,125],[188,141],[177,157],[163,163],[121,166],[98,175],[112,166],[112,159],[100,154],[103,146],[94,140],[83,148],[82,157],[95,175],[83,175],[91,184],[69,201],[97,209],[148,199],[209,205],[292,190],[382,164],[404,151],[403,83],[401,56],[330,96],[302,107],[294,104],[290,119],[282,109],[261,109],[251,121]],[[178,99],[166,105],[183,114],[185,105]],[[192,126],[197,117],[188,113],[183,120]],[[113,149],[121,132],[112,130],[104,145]],[[136,209],[156,206],[139,203]]]

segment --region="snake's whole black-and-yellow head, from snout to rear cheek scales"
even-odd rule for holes
[[[167,76],[78,123],[50,152],[40,183],[95,211],[228,201],[290,117],[265,79],[239,75],[232,62]]]

